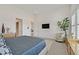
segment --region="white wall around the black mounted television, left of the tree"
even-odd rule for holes
[[[64,19],[65,17],[70,17],[70,6],[62,6],[54,11],[48,10],[50,14],[37,15],[37,20],[34,22],[34,36],[42,38],[53,38],[54,34],[60,32],[60,29],[57,26],[59,20]],[[50,23],[50,29],[42,29],[42,24]]]

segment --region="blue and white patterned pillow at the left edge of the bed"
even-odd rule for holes
[[[12,55],[11,49],[6,46],[4,39],[0,39],[0,55]]]

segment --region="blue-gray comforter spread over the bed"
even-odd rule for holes
[[[46,46],[41,38],[21,36],[5,39],[13,55],[38,55]]]

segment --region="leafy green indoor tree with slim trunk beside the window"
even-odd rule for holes
[[[69,28],[70,25],[70,21],[68,19],[68,17],[64,18],[62,21],[58,21],[57,22],[58,27],[64,31],[64,41],[67,39],[67,30]]]

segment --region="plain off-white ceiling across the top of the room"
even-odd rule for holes
[[[68,6],[68,4],[5,4],[0,5],[0,9],[10,7],[13,10],[22,10],[29,14],[50,14],[50,11],[54,12]]]

